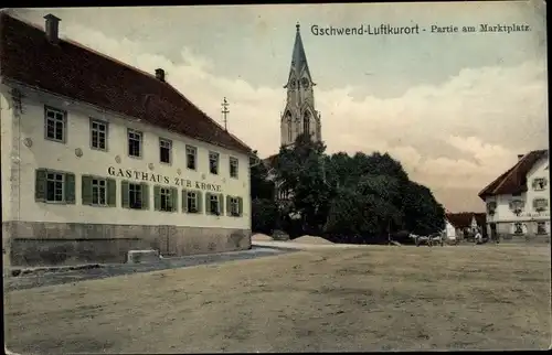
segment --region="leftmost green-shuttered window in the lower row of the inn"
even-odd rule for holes
[[[75,203],[75,174],[38,169],[34,197],[38,202]]]

